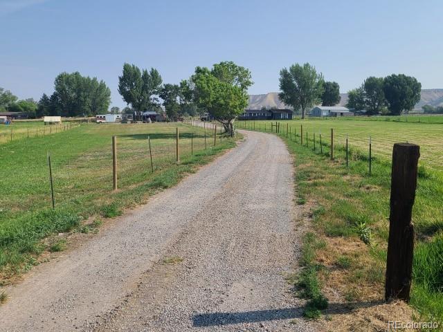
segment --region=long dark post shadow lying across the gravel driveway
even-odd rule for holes
[[[193,324],[197,327],[219,326],[269,320],[289,320],[301,316],[302,307],[244,311],[242,313],[201,313],[193,317]]]

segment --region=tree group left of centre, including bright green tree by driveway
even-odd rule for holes
[[[138,116],[147,109],[159,109],[161,98],[169,118],[207,111],[233,135],[233,121],[247,107],[247,91],[252,84],[251,72],[233,62],[197,67],[188,80],[164,85],[156,69],[148,72],[124,64],[118,92]]]

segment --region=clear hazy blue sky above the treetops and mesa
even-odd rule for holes
[[[38,100],[58,73],[80,71],[124,107],[124,62],[177,83],[232,60],[251,70],[254,94],[278,91],[280,69],[296,62],[341,92],[391,73],[443,88],[442,17],[441,0],[0,0],[0,86]]]

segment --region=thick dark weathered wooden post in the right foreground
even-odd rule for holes
[[[414,253],[414,226],[411,219],[419,156],[420,147],[409,143],[396,143],[392,151],[386,301],[409,301]]]

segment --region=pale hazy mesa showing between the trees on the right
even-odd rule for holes
[[[336,106],[345,106],[347,103],[347,93],[340,93],[341,100]],[[415,105],[414,109],[422,109],[424,105],[433,107],[443,106],[443,89],[422,89],[422,99]],[[290,109],[279,98],[277,92],[270,92],[264,95],[249,95],[248,109]]]

